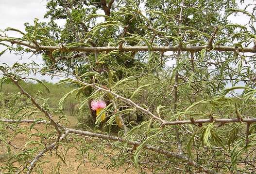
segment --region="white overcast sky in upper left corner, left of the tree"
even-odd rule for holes
[[[24,31],[24,23],[34,23],[34,18],[40,21],[46,21],[44,14],[46,13],[46,0],[0,0],[0,29],[8,27]],[[3,17],[4,16],[4,17]],[[8,32],[9,37],[21,37],[17,32]],[[20,56],[10,55],[8,53],[0,57],[0,62],[12,65],[18,62],[30,62],[27,56],[19,60]],[[41,58],[33,57],[36,62],[42,62]]]

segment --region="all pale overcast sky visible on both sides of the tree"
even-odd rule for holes
[[[245,0],[246,3],[255,3],[254,0]],[[244,8],[244,5],[240,5],[240,8]],[[250,11],[251,9],[249,9]],[[0,0],[0,29],[6,29],[8,27],[16,28],[24,31],[24,23],[33,23],[34,18],[38,18],[40,22],[47,21],[44,19],[44,14],[46,13],[46,0]],[[249,17],[238,14],[237,16],[230,16],[229,20],[233,23],[239,23],[244,25],[248,22]],[[60,22],[61,24],[61,22]],[[62,23],[63,24],[63,23]],[[20,37],[17,32],[8,32],[9,37]],[[3,47],[0,46],[0,50]],[[0,57],[0,63],[7,63],[12,65],[15,62],[28,63],[33,59],[36,63],[43,63],[41,56],[33,56],[28,59],[31,55],[26,54],[20,58],[20,56],[15,56],[6,52]],[[50,77],[47,76],[36,76],[39,79],[46,79],[51,81]],[[54,78],[53,82],[59,81],[58,78]]]

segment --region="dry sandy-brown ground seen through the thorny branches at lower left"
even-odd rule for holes
[[[73,116],[69,116],[68,120],[70,125],[68,127],[74,127],[77,124],[77,120]],[[29,124],[22,124],[22,126],[27,127]],[[35,128],[38,130],[44,130],[44,125],[35,125]],[[12,141],[17,147],[22,147],[25,145],[27,140],[27,135],[18,134],[15,139]],[[0,143],[0,145],[2,145]],[[14,149],[13,149],[14,150]],[[62,150],[61,148],[58,151]],[[15,152],[15,150],[14,150]],[[63,151],[63,153],[65,153]],[[49,162],[40,164],[44,174],[122,174],[124,169],[119,171],[110,171],[104,169],[102,166],[97,166],[92,162],[86,161],[84,164],[81,164],[81,161],[76,161],[77,150],[75,148],[69,149],[66,158],[66,164],[64,164],[53,152],[52,155],[49,153],[46,154],[42,160],[48,160]],[[6,149],[0,148],[0,165],[7,159]],[[78,168],[78,166],[80,167]],[[56,167],[59,166],[59,167]],[[77,169],[78,168],[78,169]],[[34,172],[35,173],[35,172]],[[136,170],[128,170],[125,174],[137,174]]]

